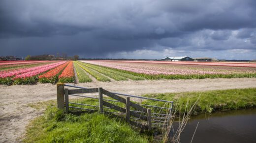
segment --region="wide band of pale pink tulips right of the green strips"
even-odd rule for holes
[[[119,70],[132,71],[144,74],[232,74],[232,73],[256,73],[256,68],[240,68],[240,67],[210,67],[197,65],[170,65],[160,62],[121,62],[121,61],[82,61],[85,63],[101,65]]]

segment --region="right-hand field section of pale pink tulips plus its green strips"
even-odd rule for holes
[[[103,72],[105,75],[106,71],[123,77],[133,75],[133,79],[126,77],[132,80],[256,77],[256,63],[80,61],[80,63],[82,62],[82,65],[98,72]]]

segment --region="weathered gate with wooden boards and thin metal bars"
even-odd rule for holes
[[[67,88],[64,88],[64,86],[78,88],[78,89],[67,89]],[[88,93],[98,93],[98,97],[81,95],[81,94],[88,94]],[[77,94],[79,94],[79,95],[77,95]],[[70,102],[69,95],[98,99],[98,105]],[[103,98],[103,95],[106,95],[110,99]],[[125,97],[122,97],[122,96],[125,96]],[[170,108],[134,103],[134,102],[130,101],[130,97],[147,99],[147,100],[156,100],[156,101],[160,101],[160,102],[167,102],[167,103],[170,103]],[[125,104],[125,108],[120,107],[116,104],[110,103],[113,101]],[[112,109],[112,110],[118,111],[118,112],[112,112],[112,113],[125,114],[127,122],[129,122],[131,124],[137,124],[137,125],[140,124],[142,126],[146,126],[146,128],[148,130],[151,130],[152,124],[153,125],[165,125],[165,126],[168,125],[169,119],[171,117],[171,109],[172,109],[173,102],[160,100],[160,99],[154,99],[154,98],[141,97],[141,96],[112,93],[112,92],[109,92],[102,88],[83,88],[83,87],[60,84],[60,83],[57,84],[57,105],[58,105],[59,109],[65,110],[66,113],[68,113],[71,108],[81,109],[81,110],[93,110],[93,109],[88,109],[88,108],[70,106],[69,104],[97,107],[97,108],[99,108],[100,113],[104,113],[104,108]],[[143,106],[147,106],[149,108],[145,108]],[[135,110],[131,110],[130,108],[133,108]],[[168,109],[169,113],[167,113],[167,114],[151,113],[151,108]],[[157,118],[157,119],[152,119],[152,117]],[[142,122],[133,121],[131,119],[142,120]],[[164,119],[164,120],[162,120],[162,119]],[[145,122],[146,125],[142,124],[143,121]],[[158,122],[155,123],[156,121],[158,121]],[[159,122],[163,122],[163,123],[159,123]]]

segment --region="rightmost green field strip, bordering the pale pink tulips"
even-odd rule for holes
[[[81,63],[83,63],[83,62],[81,62]],[[112,74],[123,76],[123,77],[131,79],[131,80],[144,80],[144,78],[142,78],[142,77],[135,76],[135,75],[128,74],[128,73],[125,73],[125,72],[121,72],[121,71],[116,71],[116,70],[114,70],[112,68],[98,66],[98,65],[93,65],[93,64],[88,64],[88,63],[83,63],[83,64],[84,65],[90,65],[91,67],[98,68],[98,69],[100,68],[101,71],[111,72]]]

